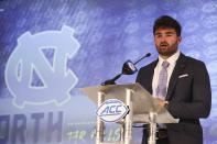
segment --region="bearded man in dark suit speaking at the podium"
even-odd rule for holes
[[[210,112],[209,76],[203,62],[178,51],[182,41],[180,23],[169,15],[155,20],[154,43],[159,58],[142,67],[137,82],[144,87],[178,123],[159,126],[156,144],[203,144],[199,118]],[[142,144],[149,136],[144,129]]]

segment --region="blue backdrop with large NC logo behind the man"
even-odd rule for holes
[[[94,144],[96,106],[78,88],[99,86],[158,58],[152,26],[169,14],[183,26],[181,52],[205,62],[213,106],[204,143],[217,144],[216,0],[0,0],[0,143]],[[135,75],[118,84],[134,82]],[[142,129],[133,129],[140,143]],[[106,142],[120,126],[106,124]]]

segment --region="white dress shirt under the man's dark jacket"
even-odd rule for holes
[[[162,63],[164,60],[170,63],[170,65],[167,67],[167,84],[166,84],[166,91],[167,91],[167,86],[169,86],[169,82],[171,79],[171,75],[173,73],[173,69],[175,67],[178,56],[180,56],[180,51],[177,51],[174,55],[172,55],[167,59],[163,59],[159,56],[159,63],[158,63],[156,67],[154,68],[154,76],[153,76],[153,80],[152,80],[152,90],[153,90],[152,96],[154,98],[156,97],[156,89],[158,89],[158,85],[159,85],[159,75],[162,69]]]

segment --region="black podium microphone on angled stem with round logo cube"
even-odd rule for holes
[[[117,75],[115,78],[106,80],[105,82],[101,84],[101,86],[106,86],[106,85],[116,85],[116,80],[119,79],[121,77],[121,75],[133,75],[134,73],[138,71],[135,65],[141,62],[142,59],[144,59],[145,57],[150,57],[151,54],[148,53],[145,56],[143,56],[142,58],[140,58],[139,60],[137,60],[135,63],[132,63],[131,60],[127,60],[123,66],[122,66],[122,71],[121,74]]]

